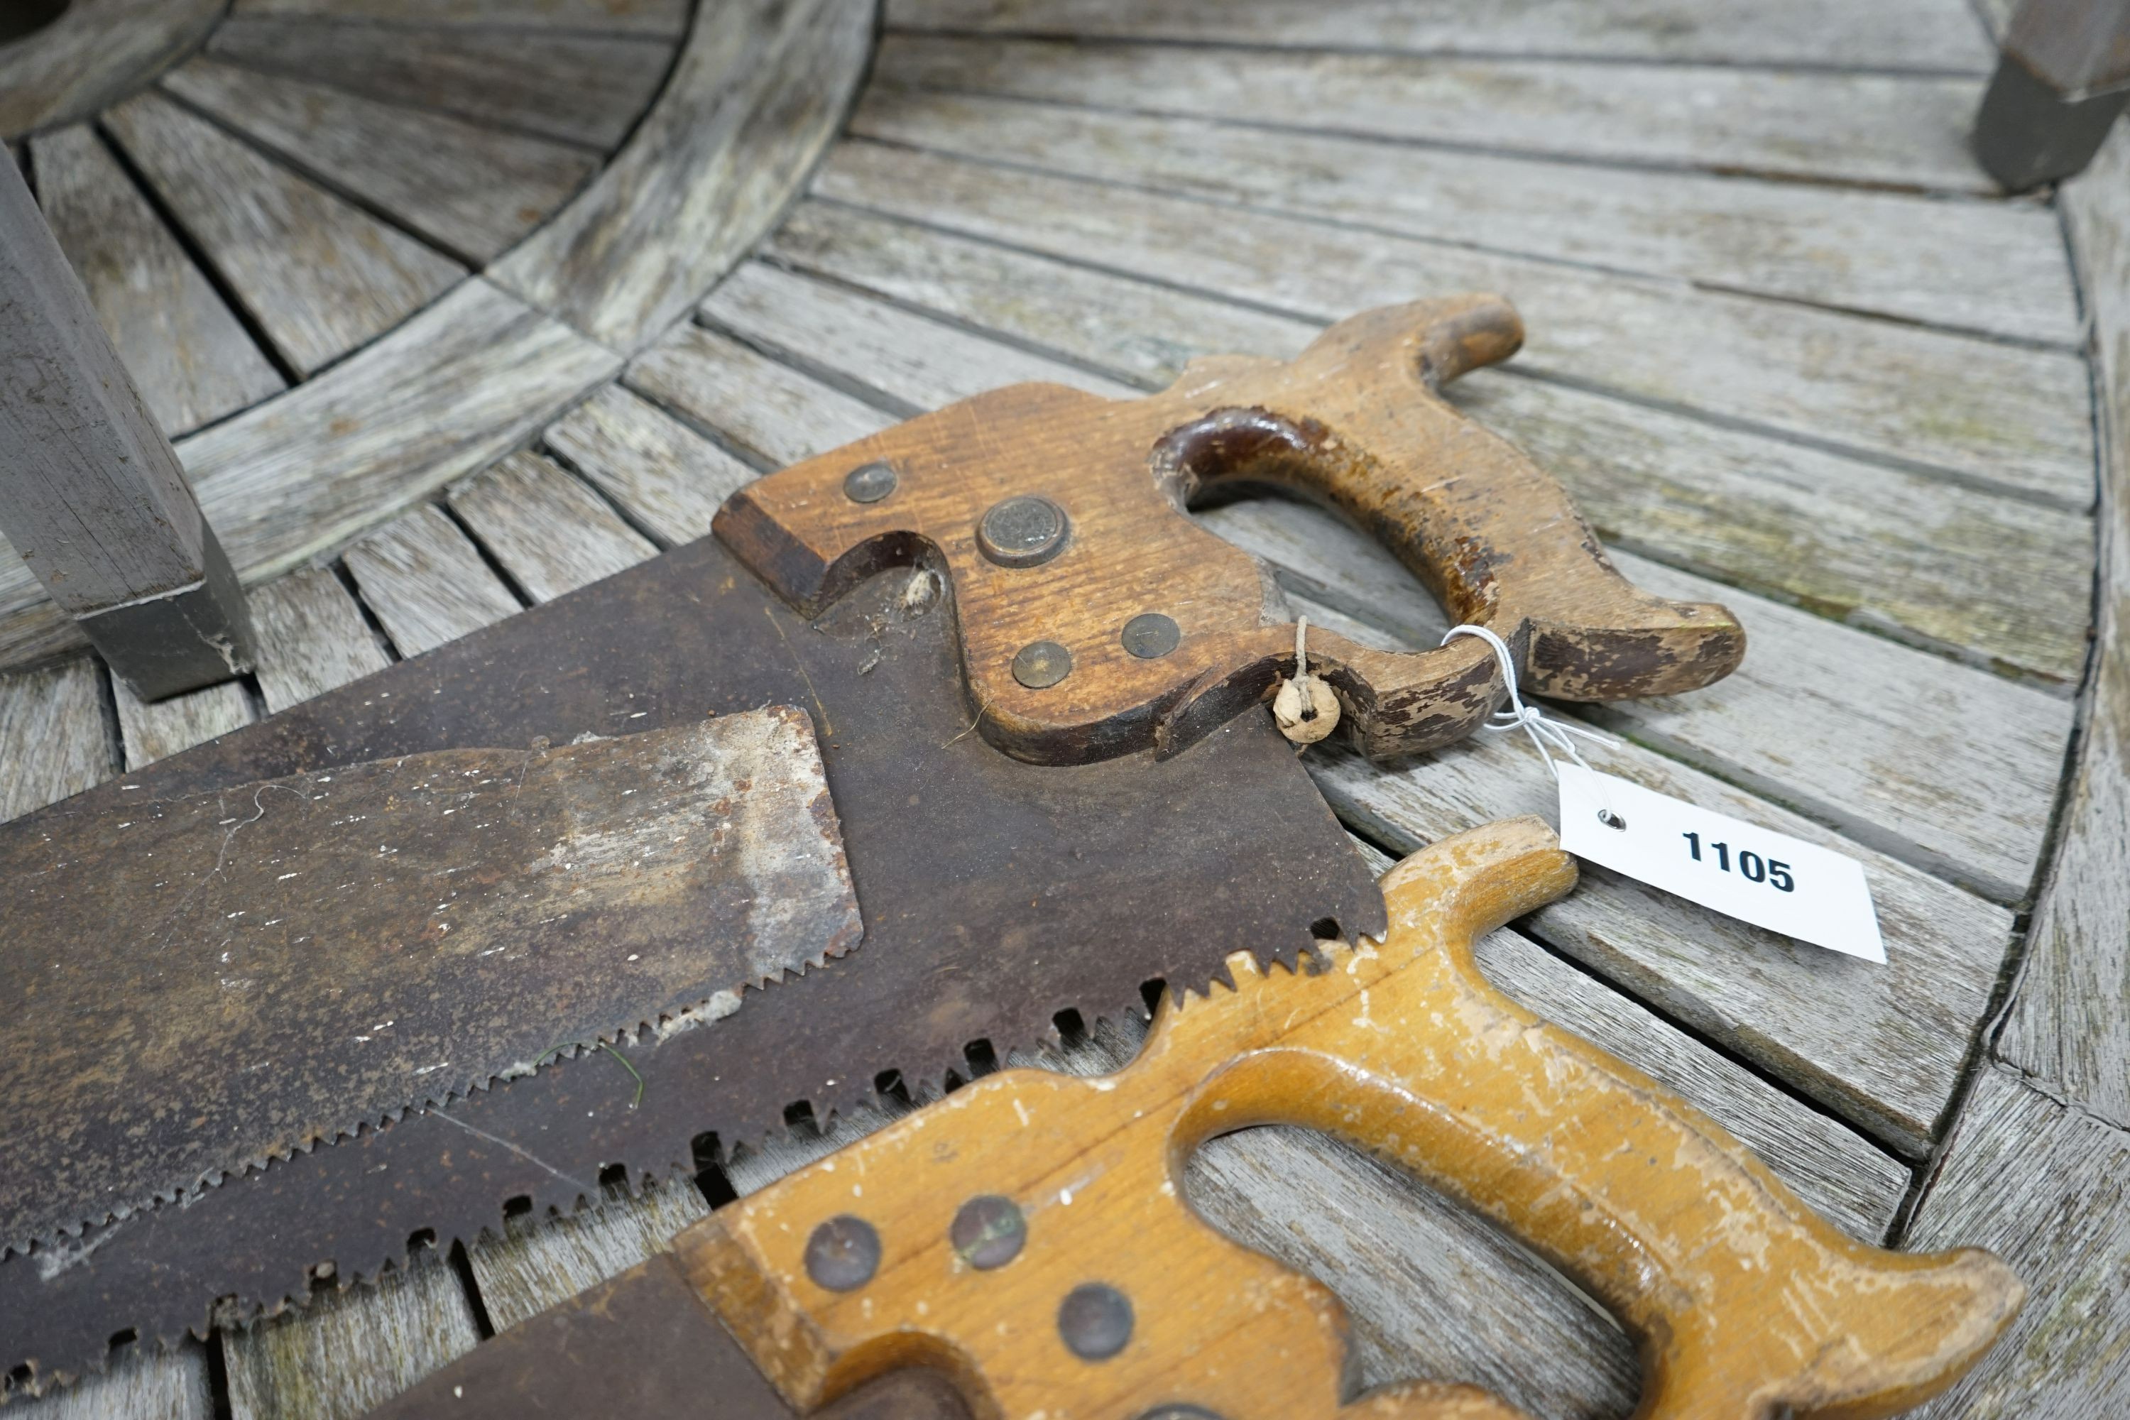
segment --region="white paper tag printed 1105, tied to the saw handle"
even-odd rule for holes
[[[1561,847],[1740,922],[1885,960],[1864,864],[1580,764],[1561,775]]]

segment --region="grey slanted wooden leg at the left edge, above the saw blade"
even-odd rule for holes
[[[236,573],[13,162],[0,162],[0,532],[143,700],[251,664]]]

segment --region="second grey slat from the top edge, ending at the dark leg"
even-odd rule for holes
[[[1979,79],[1695,64],[1267,53],[890,34],[886,72],[967,94],[1250,115],[1591,162],[1992,194],[1966,147]]]

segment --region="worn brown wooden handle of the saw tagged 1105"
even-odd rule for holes
[[[1340,509],[1455,620],[1508,641],[1542,694],[1730,673],[1744,630],[1723,607],[1629,585],[1551,475],[1440,398],[1521,339],[1506,300],[1457,296],[1355,315],[1291,362],[1195,360],[1142,400],[995,390],[750,483],[716,534],[807,613],[935,558],[984,737],[1052,764],[1182,749],[1293,675],[1269,575],[1184,515],[1229,483]],[[1001,509],[1018,517],[988,522]],[[1468,734],[1504,690],[1478,641],[1376,651],[1314,632],[1310,660],[1374,756]]]

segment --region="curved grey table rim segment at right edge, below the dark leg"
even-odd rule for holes
[[[2055,862],[1998,1054],[2130,1124],[2130,138],[2062,192],[2094,311],[2102,496],[2096,662]]]

